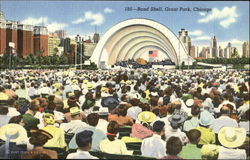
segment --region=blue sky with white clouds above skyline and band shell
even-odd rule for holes
[[[149,11],[132,10],[147,8]],[[151,11],[162,7],[163,11]],[[177,8],[177,11],[167,11]],[[182,11],[180,8],[189,8]],[[195,11],[201,8],[203,11]],[[212,36],[223,48],[228,42],[242,52],[242,43],[249,42],[248,1],[1,1],[1,10],[8,20],[24,24],[47,26],[49,32],[67,31],[69,37],[77,34],[93,35],[95,27],[102,36],[115,24],[131,18],[147,18],[169,28],[175,35],[181,28],[189,31],[192,44],[209,46]]]

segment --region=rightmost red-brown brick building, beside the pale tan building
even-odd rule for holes
[[[48,56],[48,29],[44,26],[34,27],[34,53]]]

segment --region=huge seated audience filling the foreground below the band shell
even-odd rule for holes
[[[247,159],[249,91],[249,71],[1,71],[0,158]]]

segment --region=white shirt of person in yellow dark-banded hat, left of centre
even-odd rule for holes
[[[71,120],[68,123],[62,123],[60,128],[64,130],[65,133],[76,133],[78,128],[87,127],[88,124],[82,122],[81,120]]]

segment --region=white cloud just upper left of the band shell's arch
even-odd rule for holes
[[[90,25],[101,25],[104,22],[104,16],[101,13],[92,13],[91,11],[85,12],[84,17],[78,18],[73,21],[73,24],[80,24],[91,21]]]

